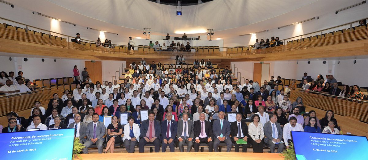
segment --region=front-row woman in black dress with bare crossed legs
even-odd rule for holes
[[[121,124],[117,123],[117,117],[113,116],[112,123],[107,126],[107,135],[109,135],[109,140],[106,144],[106,149],[103,153],[107,153],[110,149],[110,153],[114,153],[114,144],[121,142],[121,134],[123,134],[123,127]]]

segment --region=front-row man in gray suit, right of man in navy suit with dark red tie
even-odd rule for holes
[[[179,150],[184,152],[184,143],[187,143],[187,152],[192,150],[194,138],[194,126],[191,120],[188,120],[188,113],[183,113],[183,120],[178,121],[178,132],[176,137],[179,141]]]

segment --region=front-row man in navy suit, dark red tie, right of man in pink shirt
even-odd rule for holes
[[[161,122],[161,138],[162,152],[166,152],[166,147],[169,145],[170,152],[174,152],[175,137],[178,131],[177,122],[172,120],[173,114],[166,113],[166,120]]]

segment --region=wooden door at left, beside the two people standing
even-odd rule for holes
[[[84,61],[84,67],[87,68],[89,78],[92,79],[93,83],[100,81],[102,83],[102,62],[96,61]]]

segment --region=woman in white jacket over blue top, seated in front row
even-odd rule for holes
[[[134,123],[134,117],[128,116],[128,124],[124,126],[124,147],[127,149],[128,153],[134,153],[134,146],[139,141],[139,136],[141,135],[138,124]]]

